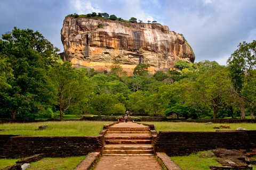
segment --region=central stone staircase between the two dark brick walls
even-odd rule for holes
[[[125,127],[125,125],[128,124],[130,127]],[[134,124],[134,127],[131,127],[132,124]],[[138,124],[128,122],[119,123],[117,126],[114,125],[109,127],[105,134],[106,145],[102,155],[153,155],[154,149],[151,145],[152,137],[150,135],[150,129],[147,126],[142,126],[140,128],[136,126],[138,126]]]

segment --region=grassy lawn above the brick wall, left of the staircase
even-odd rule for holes
[[[97,136],[104,124],[112,122],[97,121],[62,121],[35,123],[3,123],[0,124],[0,134],[30,135],[30,136]],[[39,126],[45,130],[37,130]]]

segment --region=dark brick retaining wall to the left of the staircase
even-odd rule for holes
[[[104,135],[97,137],[28,137],[0,135],[0,157],[28,157],[44,154],[45,157],[69,157],[87,155],[89,152],[101,152]]]

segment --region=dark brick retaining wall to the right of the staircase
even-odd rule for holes
[[[163,131],[153,141],[155,152],[169,156],[189,155],[196,151],[216,148],[250,152],[256,149],[256,131],[178,132]],[[256,154],[252,153],[251,155]]]

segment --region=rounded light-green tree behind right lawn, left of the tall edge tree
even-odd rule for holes
[[[228,95],[229,84],[228,72],[223,66],[201,72],[196,81],[191,82],[189,103],[198,111],[213,111],[215,119],[223,97]]]

